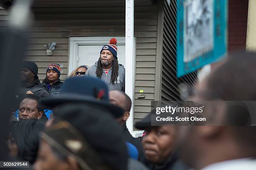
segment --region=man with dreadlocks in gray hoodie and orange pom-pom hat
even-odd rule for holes
[[[118,64],[116,39],[104,45],[100,51],[100,58],[95,65],[88,68],[86,75],[103,80],[109,90],[125,91],[125,68]]]

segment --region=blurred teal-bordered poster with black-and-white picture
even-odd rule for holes
[[[225,57],[228,0],[177,0],[177,77]]]

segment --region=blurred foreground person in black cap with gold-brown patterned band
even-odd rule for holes
[[[127,150],[111,114],[86,104],[59,106],[41,134],[35,170],[125,170]],[[75,115],[75,116],[74,116]],[[114,132],[113,132],[114,131]]]

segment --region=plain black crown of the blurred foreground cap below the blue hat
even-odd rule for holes
[[[122,130],[111,113],[104,107],[69,103],[56,107],[54,116],[66,120],[79,131],[86,143],[96,151],[111,170],[127,169],[128,153],[122,138]],[[47,132],[46,134],[49,135]],[[58,141],[60,137],[52,135],[51,138]],[[77,153],[79,152],[77,151]],[[83,155],[81,152],[80,155],[76,154],[78,158],[82,158],[81,155]],[[82,159],[90,165],[87,158],[83,157]]]

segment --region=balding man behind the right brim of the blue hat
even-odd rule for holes
[[[122,134],[124,140],[136,146],[139,153],[139,160],[141,160],[143,157],[141,141],[136,138],[133,138],[133,136],[126,127],[126,120],[130,116],[130,110],[132,106],[131,98],[128,95],[126,95],[123,91],[111,90],[109,92],[109,100],[111,104],[121,107],[124,110],[123,115],[116,118],[115,120],[123,129]]]

